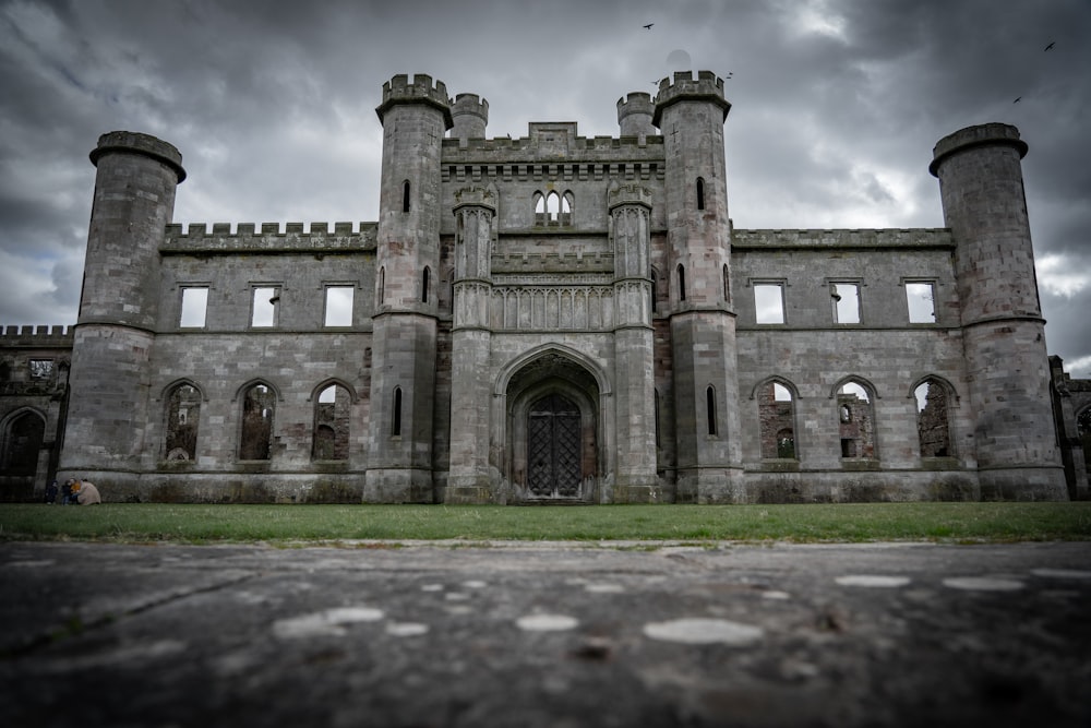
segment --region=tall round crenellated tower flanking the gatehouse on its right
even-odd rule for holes
[[[666,145],[667,260],[680,501],[745,498],[739,437],[735,314],[728,290],[723,80],[663,79],[652,123]]]

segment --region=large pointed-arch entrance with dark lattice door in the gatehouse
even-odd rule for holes
[[[599,392],[584,363],[552,348],[512,374],[503,472],[516,501],[594,500],[602,462]]]

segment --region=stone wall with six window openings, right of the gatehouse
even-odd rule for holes
[[[732,231],[732,281],[739,346],[740,411],[752,500],[928,500],[975,494],[973,413],[968,406],[961,300],[950,230]],[[836,323],[830,284],[859,286],[860,322]],[[933,285],[935,321],[911,323],[907,282]],[[757,323],[756,283],[782,286],[783,323]],[[762,456],[758,383],[791,382],[800,473]],[[842,458],[838,384],[854,377],[875,390],[874,458],[878,473],[855,473]],[[921,457],[913,389],[926,377],[954,387],[954,458]],[[961,397],[961,399],[959,399]],[[870,466],[871,467],[871,466]],[[793,490],[794,489],[794,490]]]

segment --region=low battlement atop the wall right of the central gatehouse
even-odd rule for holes
[[[830,248],[954,248],[949,228],[802,229],[731,231],[732,250]]]

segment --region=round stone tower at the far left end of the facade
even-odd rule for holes
[[[185,170],[173,146],[128,131],[99,138],[91,160],[98,174],[58,478],[86,478],[123,500],[140,478],[159,246]]]

